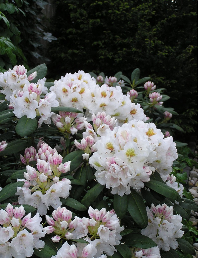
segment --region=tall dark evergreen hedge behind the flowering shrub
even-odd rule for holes
[[[49,77],[84,70],[130,77],[140,68],[167,89],[186,136],[197,130],[197,1],[54,0],[58,39],[48,49]],[[180,136],[179,136],[180,137]]]

